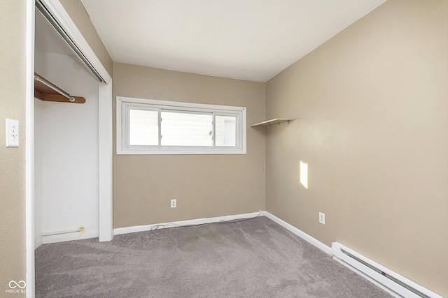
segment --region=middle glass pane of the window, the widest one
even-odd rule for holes
[[[213,146],[213,115],[162,110],[162,146]]]

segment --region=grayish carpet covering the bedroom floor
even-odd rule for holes
[[[44,244],[36,297],[391,297],[266,217]]]

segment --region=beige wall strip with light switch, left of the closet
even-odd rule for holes
[[[0,293],[25,281],[25,0],[0,1]],[[19,121],[20,147],[6,148],[5,119]],[[0,296],[1,296],[0,295]],[[20,296],[20,295],[15,295]],[[22,295],[25,296],[25,295]],[[2,296],[3,297],[3,296]]]

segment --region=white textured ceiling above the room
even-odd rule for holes
[[[113,61],[265,82],[385,0],[81,0]]]

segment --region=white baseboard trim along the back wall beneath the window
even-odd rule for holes
[[[252,212],[252,213],[246,213],[246,214],[236,214],[236,215],[228,215],[228,216],[218,216],[218,217],[211,217],[211,218],[198,218],[198,219],[190,219],[187,221],[173,221],[169,223],[157,223],[153,225],[134,225],[132,227],[125,227],[125,228],[116,228],[113,229],[114,235],[119,234],[129,234],[134,232],[146,232],[157,229],[165,229],[165,228],[176,228],[176,227],[182,227],[185,225],[202,225],[204,223],[218,223],[220,221],[234,221],[235,219],[244,219],[244,218],[251,218],[256,216],[263,216],[265,214],[264,211],[258,211],[258,212]]]

